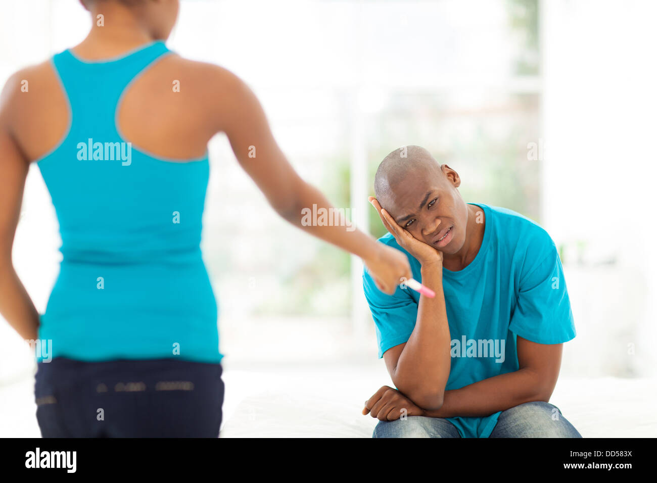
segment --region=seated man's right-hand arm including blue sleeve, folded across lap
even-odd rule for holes
[[[518,306],[509,321],[510,331],[524,335],[516,341],[519,369],[446,391],[438,417],[486,416],[530,401],[549,402],[561,366],[562,342],[575,335],[574,326],[555,243],[543,229],[527,236]]]

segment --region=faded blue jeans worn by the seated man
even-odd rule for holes
[[[553,417],[554,409],[559,415]],[[404,421],[379,421],[373,438],[460,438],[447,419],[409,416]],[[532,401],[502,411],[489,438],[581,438],[560,409],[543,401]]]

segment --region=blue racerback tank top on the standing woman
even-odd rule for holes
[[[156,41],[100,62],[69,50],[53,57],[70,127],[37,161],[62,238],[39,327],[49,357],[221,361],[200,250],[208,155],[158,158],[128,143],[116,124],[131,81],[168,53]]]

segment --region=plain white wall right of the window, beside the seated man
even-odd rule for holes
[[[657,3],[543,0],[541,16],[543,219],[589,261],[564,267],[578,329],[564,367],[654,374]]]

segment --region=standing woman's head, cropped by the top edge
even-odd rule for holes
[[[79,0],[94,16],[116,14],[137,20],[139,28],[155,40],[166,40],[178,18],[179,0]],[[94,19],[95,20],[95,19]]]

